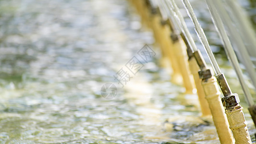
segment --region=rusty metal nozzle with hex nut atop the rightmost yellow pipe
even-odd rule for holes
[[[224,95],[224,97],[221,98],[223,106],[228,108],[228,107],[237,105],[240,102],[239,96],[237,94],[232,93],[224,74],[223,73],[218,74],[216,76],[216,79]]]

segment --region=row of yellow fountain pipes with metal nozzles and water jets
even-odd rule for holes
[[[200,50],[196,47],[184,18],[174,0],[131,0],[142,17],[142,22],[153,29],[162,55],[171,61],[172,78],[182,75],[187,92],[193,91],[193,84],[202,109],[202,115],[212,115],[221,144],[252,144],[243,107],[239,96],[232,93],[225,75],[211,51],[207,37],[199,24],[189,0],[182,0],[187,14],[195,25],[195,32],[205,48],[216,76],[207,67]],[[256,105],[245,84],[232,44],[225,31],[221,14],[217,8],[219,0],[206,0],[213,22],[232,62],[244,90],[249,111],[256,125]],[[224,10],[221,10],[221,12]],[[225,14],[225,13],[224,13]],[[193,79],[194,77],[194,79]],[[217,83],[218,82],[218,83]],[[224,95],[220,98],[219,87]],[[225,110],[224,110],[225,108]],[[225,114],[226,113],[226,114]],[[232,132],[231,132],[232,131]],[[233,133],[233,135],[232,135]]]

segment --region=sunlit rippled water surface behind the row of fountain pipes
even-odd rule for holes
[[[0,143],[219,144],[140,27],[125,0],[0,0]],[[145,44],[157,55],[122,88],[113,75]],[[118,87],[112,100],[105,83]]]

